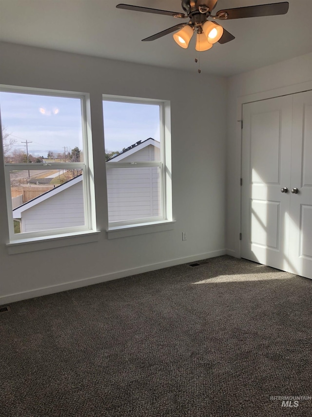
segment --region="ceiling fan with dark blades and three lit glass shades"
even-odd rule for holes
[[[233,41],[235,37],[225,30],[217,22],[210,19],[230,20],[243,19],[260,16],[274,16],[284,15],[288,12],[288,1],[271,4],[260,4],[256,6],[237,7],[234,9],[219,10],[213,16],[212,10],[215,8],[217,0],[182,0],[181,5],[185,13],[170,12],[167,10],[151,9],[149,7],[133,6],[130,4],[117,4],[118,9],[133,10],[136,12],[154,13],[159,15],[172,16],[176,19],[189,19],[189,22],[178,23],[175,26],[162,30],[155,35],[142,39],[143,42],[154,41],[169,33],[176,32],[173,37],[176,43],[182,48],[187,48],[194,33],[196,36],[197,51],[206,51],[210,49],[213,44],[226,44]]]

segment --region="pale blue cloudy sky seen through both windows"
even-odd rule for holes
[[[33,156],[82,149],[79,98],[0,92],[2,128],[14,147]],[[103,102],[105,150],[121,151],[139,140],[159,140],[159,106]],[[104,139],[103,139],[104,140]]]

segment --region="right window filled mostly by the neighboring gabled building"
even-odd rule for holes
[[[167,102],[104,96],[109,228],[170,219],[166,110]]]

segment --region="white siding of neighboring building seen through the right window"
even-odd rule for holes
[[[149,145],[122,162],[159,160],[159,149]],[[160,172],[157,167],[109,168],[107,164],[108,219],[120,221],[161,215]]]

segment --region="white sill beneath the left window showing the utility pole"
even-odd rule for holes
[[[34,252],[44,249],[53,249],[63,246],[72,246],[83,243],[98,241],[99,233],[96,231],[86,231],[80,233],[70,233],[66,235],[51,235],[42,238],[20,239],[7,243],[9,255],[16,253]]]

